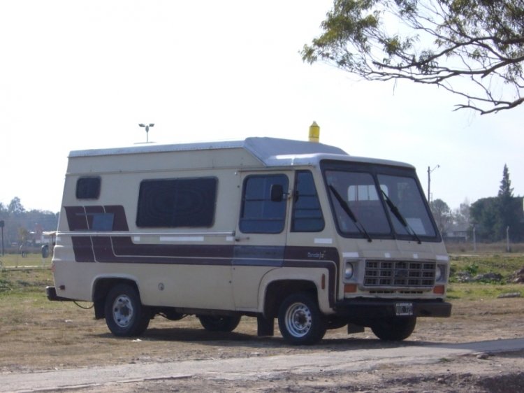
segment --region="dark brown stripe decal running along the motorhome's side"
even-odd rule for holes
[[[94,230],[94,215],[110,214],[113,231],[129,231],[123,206],[66,206],[71,231]],[[96,226],[97,224],[95,224]],[[96,230],[96,228],[95,228]],[[275,266],[328,270],[328,299],[338,292],[336,248],[265,245],[136,244],[131,236],[72,236],[76,262],[127,264],[193,264],[214,266]]]

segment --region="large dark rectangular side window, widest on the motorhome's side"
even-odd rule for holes
[[[138,227],[211,227],[217,178],[143,180],[138,196]]]

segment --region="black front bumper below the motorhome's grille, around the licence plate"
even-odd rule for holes
[[[399,303],[411,303],[414,317],[449,317],[451,315],[451,303],[439,300],[345,299],[335,304],[335,311],[351,320],[395,317]]]

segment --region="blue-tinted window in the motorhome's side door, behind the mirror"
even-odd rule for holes
[[[285,175],[253,175],[244,181],[239,228],[243,233],[279,234],[286,223],[286,196],[271,200],[272,185],[289,190]]]

